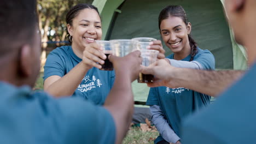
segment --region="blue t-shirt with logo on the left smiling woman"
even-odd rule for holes
[[[82,59],[75,55],[71,46],[57,47],[47,57],[43,79],[46,80],[53,75],[63,77],[81,61]],[[94,104],[102,105],[113,86],[114,79],[114,71],[99,70],[93,67],[88,70],[73,96],[83,97]]]

